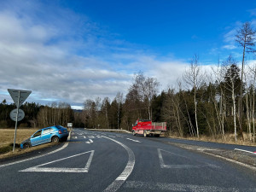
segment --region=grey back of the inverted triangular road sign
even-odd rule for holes
[[[9,95],[13,98],[17,108],[25,102],[26,98],[31,94],[31,90],[11,90],[8,89]]]

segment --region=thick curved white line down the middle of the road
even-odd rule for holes
[[[104,136],[103,136],[104,137]],[[115,143],[118,143],[119,145],[121,145],[123,148],[125,148],[125,150],[127,151],[128,153],[128,162],[127,162],[127,165],[125,166],[125,169],[123,172],[121,172],[121,174],[119,175],[119,177],[117,177],[113,183],[111,183],[107,189],[104,190],[104,192],[114,192],[116,190],[119,189],[119,187],[125,182],[125,180],[130,176],[132,170],[133,170],[133,167],[135,165],[135,156],[134,156],[134,153],[133,151],[131,150],[131,148],[128,148],[125,144],[123,143],[120,143],[112,138],[109,138],[109,137],[105,137],[105,138],[108,138],[110,139],[111,141],[115,142]]]

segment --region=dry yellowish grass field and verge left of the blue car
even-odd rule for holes
[[[38,131],[38,129],[17,129],[17,136],[16,136],[16,142],[15,143],[21,143],[28,137],[31,137],[34,132]],[[14,143],[15,139],[15,129],[0,129],[0,148],[6,148],[9,145],[12,145]],[[12,147],[10,148],[10,151],[4,154],[0,154],[0,159],[8,158],[11,156],[16,156],[19,154],[25,154],[27,152],[31,152],[33,150],[37,150],[40,148],[46,148],[53,145],[53,143],[47,143],[43,145],[39,145],[32,148],[27,149],[20,149],[19,147],[15,147],[15,152],[12,151]]]

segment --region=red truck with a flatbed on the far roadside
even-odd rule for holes
[[[132,135],[143,134],[144,137],[148,135],[160,137],[162,132],[166,131],[166,122],[156,123],[151,120],[137,119],[135,125],[132,125]]]

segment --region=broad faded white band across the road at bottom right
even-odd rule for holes
[[[193,192],[215,192],[215,191],[256,191],[256,189],[244,189],[244,188],[222,188],[217,186],[207,185],[195,185],[195,184],[180,184],[180,183],[152,183],[152,182],[140,182],[140,181],[127,181],[124,185],[125,188],[139,189],[150,191],[165,190],[165,191],[193,191]]]

